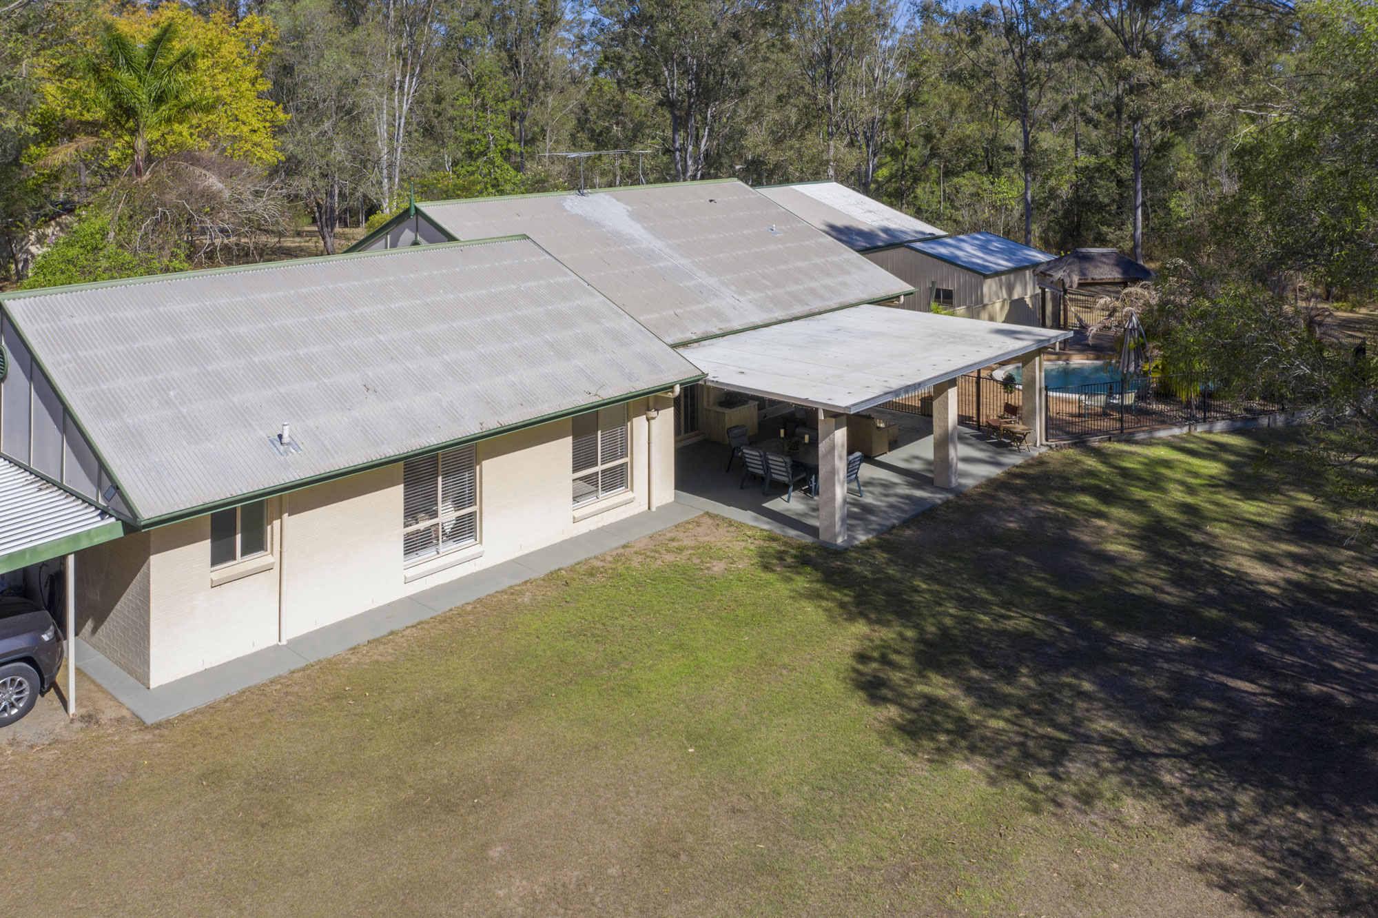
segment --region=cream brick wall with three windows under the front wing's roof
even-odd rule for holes
[[[652,404],[659,416],[648,420]],[[477,554],[460,549],[404,568],[402,465],[395,463],[270,499],[271,567],[218,586],[211,586],[208,516],[88,549],[77,562],[81,634],[157,686],[634,516],[652,496],[667,503],[671,401],[637,400],[627,415],[631,499],[609,498],[602,513],[575,520],[570,422],[558,420],[478,444],[480,557],[451,564]]]

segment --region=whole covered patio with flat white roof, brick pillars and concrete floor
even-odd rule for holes
[[[984,442],[983,434],[958,429],[956,378],[981,367],[1018,358],[1022,378],[1035,380],[1034,398],[1025,398],[1024,416],[1016,426],[1032,449],[1043,444],[1043,350],[1067,338],[1058,329],[1006,325],[885,306],[852,306],[765,328],[725,335],[681,349],[706,374],[707,385],[802,407],[803,434],[779,437],[774,420],[759,430],[755,442],[766,452],[785,451],[791,440],[812,442],[803,459],[792,460],[806,471],[801,484],[816,481],[816,493],[795,489],[755,503],[751,489],[739,487],[740,460],[723,471],[725,444],[696,444],[681,451],[677,489],[682,499],[717,503],[772,520],[787,529],[813,529],[806,535],[827,544],[847,546],[887,529],[896,522],[951,496],[1018,462],[1009,447]],[[1027,387],[1028,390],[1029,387]],[[933,393],[933,416],[889,422],[879,405],[922,390]],[[875,422],[900,425],[894,448],[865,459],[856,482],[847,487],[847,418],[868,412]],[[992,412],[995,414],[995,412]],[[796,426],[801,419],[796,419]],[[812,434],[812,436],[810,436]],[[816,444],[816,447],[814,447]],[[799,444],[794,444],[799,445]],[[710,459],[714,456],[715,459]],[[717,487],[714,487],[717,482]],[[871,484],[871,495],[865,495]],[[739,498],[732,500],[730,491]],[[755,495],[762,482],[757,480]],[[755,509],[744,509],[737,504]],[[795,507],[795,504],[799,504]],[[710,507],[706,507],[710,509]],[[857,517],[856,531],[850,516]],[[734,516],[734,514],[729,514]],[[774,527],[770,527],[774,528]]]

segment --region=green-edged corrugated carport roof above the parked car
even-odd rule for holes
[[[109,513],[0,459],[0,573],[121,535]]]

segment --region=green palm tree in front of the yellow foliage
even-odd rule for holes
[[[102,124],[134,150],[134,178],[143,178],[149,147],[167,128],[207,112],[214,101],[187,79],[194,45],[176,44],[176,23],[164,22],[145,44],[106,23],[85,68],[96,90]]]

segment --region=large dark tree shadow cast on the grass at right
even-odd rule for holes
[[[1261,912],[1378,911],[1370,561],[1257,437],[1028,463],[858,550],[772,544],[874,624],[854,682],[896,735],[1032,808],[1155,802]]]

